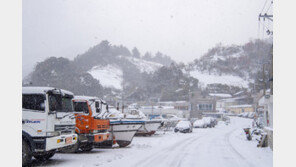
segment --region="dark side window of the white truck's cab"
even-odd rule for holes
[[[42,94],[23,94],[22,108],[30,110],[45,110],[45,95]]]

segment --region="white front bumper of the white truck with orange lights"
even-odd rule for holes
[[[46,151],[73,145],[77,142],[77,134],[60,135],[46,138]]]

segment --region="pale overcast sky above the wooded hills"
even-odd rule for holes
[[[50,56],[73,59],[102,40],[177,62],[217,43],[258,38],[265,0],[24,0],[23,75]]]

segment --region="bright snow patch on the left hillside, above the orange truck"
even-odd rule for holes
[[[117,66],[110,64],[107,66],[95,66],[88,73],[99,80],[104,87],[122,89],[122,70]]]

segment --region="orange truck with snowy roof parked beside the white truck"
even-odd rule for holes
[[[100,110],[93,97],[75,96],[73,99],[74,114],[76,117],[75,132],[78,142],[64,152],[90,151],[95,145],[109,138],[110,121],[102,119],[95,110]]]

